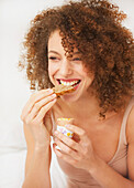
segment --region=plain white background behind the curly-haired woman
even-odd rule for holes
[[[19,188],[23,180],[25,140],[20,115],[31,92],[18,71],[21,43],[30,20],[63,0],[0,0],[0,188]],[[127,14],[134,33],[134,0],[113,0]],[[24,153],[23,153],[24,152]]]

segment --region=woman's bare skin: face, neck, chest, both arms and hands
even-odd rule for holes
[[[48,74],[52,83],[58,84],[57,79],[64,81],[78,79],[81,82],[74,93],[65,94],[58,100],[52,90],[36,92],[23,108],[21,118],[24,122],[27,143],[26,178],[23,187],[40,184],[38,187],[51,188],[48,169],[53,128],[51,113],[53,111],[55,121],[63,116],[75,118],[74,125],[68,125],[67,128],[77,135],[76,138],[70,139],[59,132],[54,133],[53,149],[60,159],[76,168],[87,170],[102,187],[132,188],[134,187],[134,109],[131,111],[126,125],[129,180],[107,165],[118,147],[124,109],[120,113],[108,112],[105,119],[99,119],[100,108],[97,98],[91,95],[90,88],[94,75],[87,72],[80,54],[76,52],[78,52],[77,49],[74,51],[72,59],[68,60],[62,45],[59,31],[52,33],[48,40]],[[56,149],[56,145],[64,153]],[[33,173],[36,170],[37,175]],[[37,182],[35,184],[35,181]]]

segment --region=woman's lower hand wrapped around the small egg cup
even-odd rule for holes
[[[56,155],[76,168],[89,170],[94,163],[92,144],[86,132],[75,125],[67,125],[67,129],[74,132],[79,137],[79,142],[65,136],[60,132],[55,132],[54,150]],[[59,149],[55,147],[59,146]]]

